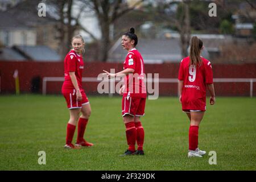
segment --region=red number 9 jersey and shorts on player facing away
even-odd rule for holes
[[[189,67],[189,57],[181,60],[179,80],[183,80],[181,94],[182,109],[206,110],[207,84],[213,83],[212,65],[210,61],[201,57],[200,66]]]

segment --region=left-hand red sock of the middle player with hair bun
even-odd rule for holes
[[[125,124],[126,127],[126,139],[127,144],[129,145],[128,150],[135,151],[136,143],[136,128],[134,122],[129,122]]]

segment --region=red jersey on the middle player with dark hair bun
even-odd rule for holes
[[[133,74],[126,76],[123,96],[146,98],[146,86],[144,84],[144,61],[141,53],[133,48],[127,53],[123,69],[134,69]]]

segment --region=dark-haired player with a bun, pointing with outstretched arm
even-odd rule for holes
[[[144,129],[141,117],[144,115],[146,104],[146,87],[144,85],[144,62],[141,53],[135,48],[138,43],[134,28],[122,35],[122,47],[127,50],[127,56],[123,63],[123,71],[109,73],[109,77],[124,76],[125,85],[119,90],[122,99],[122,117],[126,127],[126,139],[129,148],[125,155],[144,155]],[[135,150],[137,141],[138,148]]]

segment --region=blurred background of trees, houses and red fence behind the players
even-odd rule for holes
[[[77,34],[86,43],[83,87],[98,94],[102,69],[122,70],[121,36],[130,27],[146,73],[163,78],[161,96],[177,96],[174,78],[194,35],[213,65],[217,96],[256,96],[256,2],[250,0],[0,0],[0,94],[60,94],[63,60]]]

